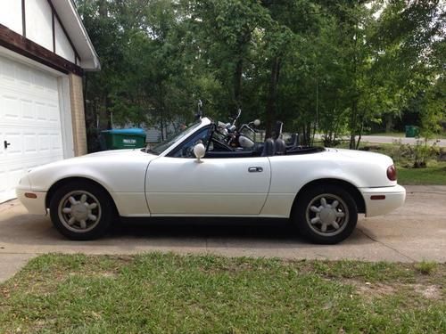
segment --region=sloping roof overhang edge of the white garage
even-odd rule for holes
[[[80,57],[80,63],[78,64],[82,69],[86,70],[100,70],[101,63],[99,57],[95,52],[95,47],[91,43],[90,37],[88,37],[87,30],[80,19],[76,6],[72,0],[57,0],[52,1],[54,10],[62,20],[63,27],[78,56]]]

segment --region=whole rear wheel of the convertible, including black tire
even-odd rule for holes
[[[335,201],[338,204],[331,208]],[[318,244],[335,244],[348,238],[355,229],[358,208],[343,187],[318,185],[299,196],[294,203],[292,219],[304,238]]]

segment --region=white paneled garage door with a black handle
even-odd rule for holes
[[[0,203],[31,167],[63,159],[57,78],[0,56]]]

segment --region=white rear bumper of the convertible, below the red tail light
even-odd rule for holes
[[[366,216],[385,215],[402,207],[406,200],[406,189],[397,184],[392,187],[360,188],[366,203]],[[378,200],[372,200],[376,196]],[[380,199],[384,197],[384,199]]]

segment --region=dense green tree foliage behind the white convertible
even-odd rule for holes
[[[227,120],[276,120],[351,148],[405,113],[422,135],[445,118],[445,8],[430,1],[76,0],[102,70],[85,79],[87,123],[166,129],[196,101]],[[163,133],[164,134],[164,133]],[[359,136],[359,137],[358,137]],[[359,138],[357,140],[356,138]]]

